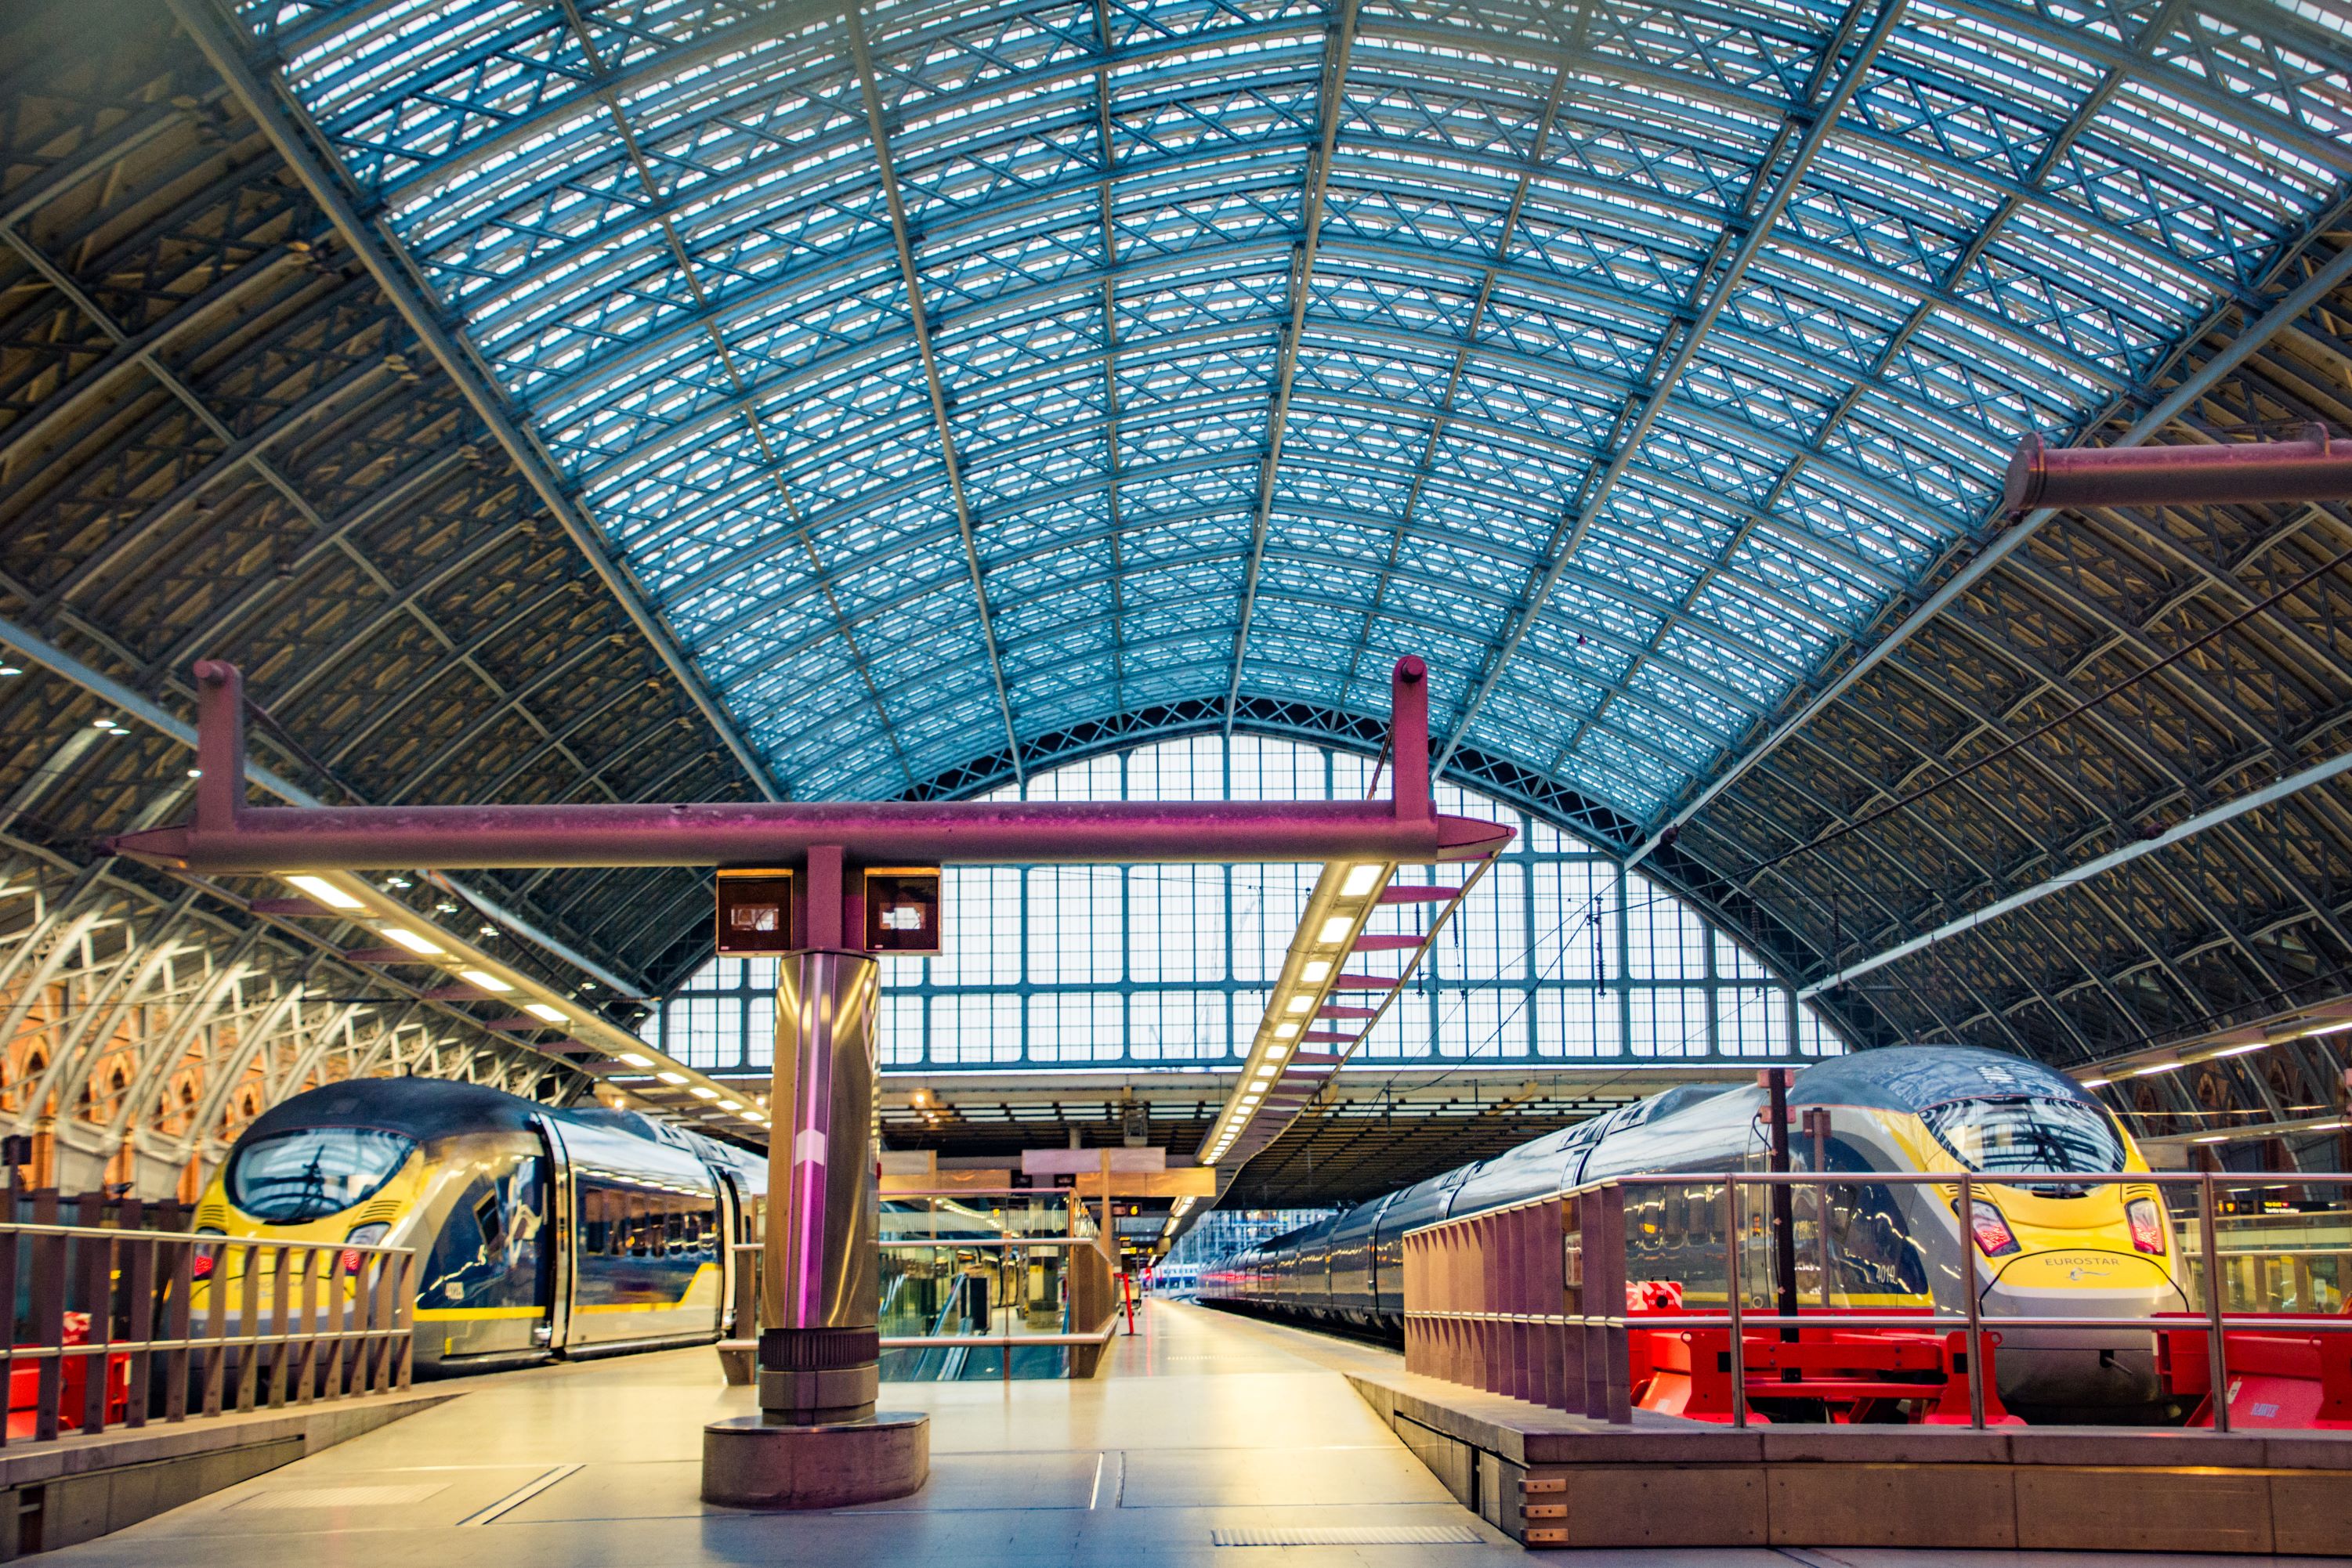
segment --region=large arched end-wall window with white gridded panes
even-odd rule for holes
[[[1371,764],[1296,741],[1202,736],[1075,762],[1030,799],[1343,799]],[[1002,797],[1014,790],[1002,790]],[[1439,811],[1508,820],[1359,1063],[1820,1056],[1813,1009],[1663,886],[1517,806],[1451,785]],[[884,959],[898,1070],[1190,1067],[1244,1056],[1315,865],[950,867],[938,959]],[[771,1063],[776,966],[713,959],[644,1025],[715,1072]]]

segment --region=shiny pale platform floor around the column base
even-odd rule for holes
[[[59,1568],[1484,1568],[1461,1509],[1341,1378],[1397,1356],[1150,1302],[1094,1382],[884,1385],[931,1413],[931,1483],[833,1514],[696,1497],[701,1429],[750,1410],[710,1349],[485,1378],[463,1399],[103,1540]],[[459,1385],[463,1387],[463,1385]],[[1322,1544],[1291,1544],[1322,1533]],[[1381,1540],[1388,1537],[1388,1540]],[[1451,1537],[1451,1540],[1444,1540]],[[1244,1544],[1249,1542],[1249,1544]],[[1263,1542],[1263,1544],[1256,1544]],[[2321,1559],[1569,1552],[1639,1568],[2154,1568]]]

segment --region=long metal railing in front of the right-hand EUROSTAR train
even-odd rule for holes
[[[1999,1258],[1987,1258],[1980,1241],[1962,1239],[1978,1234],[1980,1218],[1999,1220],[2006,1229],[1999,1204],[2018,1204],[2018,1194],[2053,1187],[2136,1187],[2140,1197],[2159,1194],[2164,1251],[2133,1255],[2164,1269],[2183,1298],[2183,1312],[1987,1316],[1983,1291],[1999,1272]],[[2333,1197],[2319,1204],[2305,1197],[2300,1208],[2277,1197],[2314,1190],[2333,1190]],[[1795,1201],[1776,1201],[1776,1192],[1788,1199],[1811,1197],[1809,1213]],[[1856,1229],[1839,1220],[1867,1208],[1853,1199],[1863,1192],[1879,1194],[1879,1213],[1900,1208],[1893,1197],[1898,1192],[1910,1194],[1915,1208],[1945,1194],[1943,1204],[1955,1220],[1950,1246],[1917,1255],[1915,1293],[1931,1305],[1856,1307],[1853,1291],[1835,1284],[1856,1272],[1856,1260],[1832,1239],[1832,1229]],[[2338,1338],[2352,1333],[2347,1199],[2352,1175],[2340,1173],[2004,1178],[1804,1171],[1609,1178],[1406,1232],[1406,1371],[1623,1425],[1632,1420],[1632,1331],[1724,1333],[1729,1345],[1740,1347],[1724,1356],[1729,1420],[1745,1427],[1752,1396],[1788,1392],[1780,1382],[1757,1389],[1748,1366],[1759,1354],[1750,1338],[1755,1331],[1778,1331],[1780,1340],[1823,1328],[1926,1331],[1950,1335],[1947,1366],[1964,1378],[1966,1425],[1983,1429],[1987,1410],[1999,1418],[1997,1373],[1985,1373],[2009,1331],[2131,1331],[2152,1342],[2157,1335],[2194,1335],[2204,1368],[2180,1368],[2180,1382],[2187,1394],[2206,1396],[2213,1429],[2227,1432],[2232,1333],[2319,1335],[2326,1371],[2336,1382],[2352,1380],[2345,1354],[2352,1342]],[[2249,1206],[2253,1213],[2241,1213]],[[2265,1239],[2260,1232],[2272,1234]],[[1879,1239],[1886,1234],[1900,1232],[1882,1229]],[[2314,1237],[2319,1244],[2303,1244]],[[2129,1232],[2124,1239],[2129,1244]],[[2110,1244],[2082,1246],[2091,1251]],[[1661,1276],[1661,1258],[1670,1258],[1677,1276]],[[1959,1288],[1962,1258],[1966,1288]],[[1891,1267],[1900,1258],[1872,1258],[1867,1265]],[[1950,1288],[1936,1291],[1938,1279]],[[2218,1281],[2218,1288],[2206,1281]],[[1813,1298],[1811,1312],[1806,1295]],[[1846,1298],[1844,1305],[1837,1302],[1839,1295]],[[1938,1305],[1950,1295],[1959,1298],[1959,1309]],[[1719,1307],[1708,1309],[1710,1302]],[[1783,1302],[1795,1309],[1780,1312]],[[1762,1359],[1773,1361],[1776,1354],[1766,1347]],[[1788,1352],[1790,1363],[1797,1359],[1797,1352]],[[2336,1389],[2331,1396],[2343,1399],[2345,1392]],[[2345,1415],[2352,1418],[2352,1410]],[[1959,1425],[1957,1413],[1950,1420]]]

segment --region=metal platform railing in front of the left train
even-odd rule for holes
[[[409,1387],[416,1253],[0,1222],[0,1441]]]

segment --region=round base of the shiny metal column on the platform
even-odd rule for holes
[[[736,1415],[703,1427],[703,1502],[736,1509],[837,1509],[906,1497],[931,1479],[931,1418],[771,1427]]]

